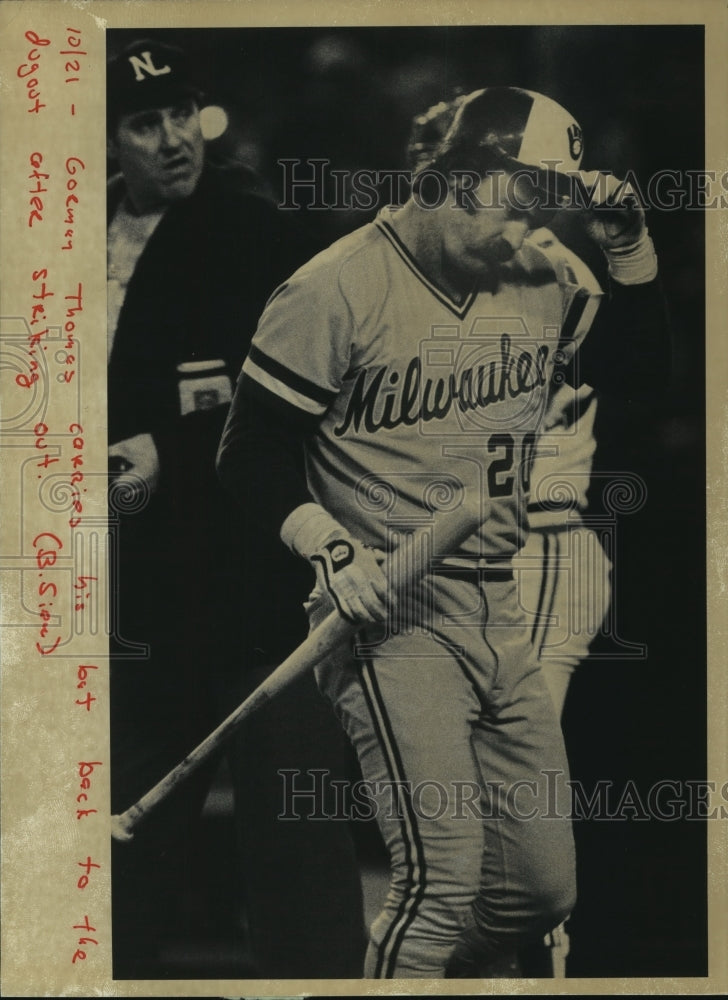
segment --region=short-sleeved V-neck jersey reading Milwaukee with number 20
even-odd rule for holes
[[[507,557],[524,539],[554,367],[597,299],[565,250],[555,259],[527,241],[497,284],[454,301],[391,218],[385,210],[274,293],[243,371],[320,416],[309,488],[352,534],[382,546],[388,523],[421,524],[467,499],[483,523],[458,554]]]

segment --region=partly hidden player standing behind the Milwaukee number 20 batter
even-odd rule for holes
[[[413,173],[432,161],[464,100],[465,95],[459,95],[415,117],[407,147]],[[555,266],[568,261],[581,287],[590,295],[601,295],[594,275],[550,230],[535,230],[529,240]],[[588,656],[609,609],[611,563],[596,532],[582,521],[596,451],[596,409],[591,386],[564,384],[552,392],[533,452],[529,532],[513,559],[519,601],[532,623],[532,642],[559,718],[571,676]],[[539,968],[563,975],[568,949],[569,936],[561,925],[546,935],[543,944],[536,943],[511,961],[510,973],[521,964],[533,966],[535,958]]]

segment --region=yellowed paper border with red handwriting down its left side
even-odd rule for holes
[[[728,167],[728,124],[725,95],[728,93],[728,11],[721,0],[646,0],[625,3],[584,5],[578,0],[560,3],[508,3],[502,0],[413,0],[413,2],[314,3],[308,0],[230,0],[201,3],[167,0],[5,0],[0,5],[0,112],[3,143],[0,155],[0,183],[3,231],[0,242],[2,268],[2,308],[0,314],[9,338],[9,370],[27,365],[27,331],[22,318],[29,316],[32,295],[40,288],[29,280],[33,269],[48,268],[48,282],[58,296],[75,291],[83,283],[83,312],[77,324],[78,350],[76,378],[68,385],[52,384],[50,409],[43,394],[31,386],[22,407],[8,396],[3,404],[2,462],[2,600],[6,620],[25,620],[27,605],[20,606],[17,576],[23,577],[23,600],[33,594],[40,603],[41,568],[36,561],[39,545],[33,540],[41,532],[60,535],[68,514],[65,499],[49,482],[42,502],[32,498],[32,470],[29,461],[47,453],[57,456],[57,468],[66,473],[74,456],[82,454],[86,493],[84,525],[78,533],[77,548],[57,552],[58,561],[48,568],[57,584],[54,617],[49,620],[47,638],[53,627],[72,620],[77,624],[71,641],[61,655],[41,656],[35,650],[38,628],[28,625],[5,629],[3,634],[3,756],[2,756],[2,992],[18,996],[258,996],[385,995],[438,993],[721,993],[728,988],[728,956],[725,949],[728,928],[728,850],[725,823],[709,826],[710,838],[710,969],[705,979],[570,979],[565,981],[479,981],[472,986],[462,980],[457,986],[438,981],[382,982],[307,981],[296,983],[266,981],[113,981],[111,978],[109,896],[108,760],[106,725],[106,660],[99,643],[93,601],[103,600],[103,532],[105,515],[105,157],[104,157],[104,73],[107,27],[224,27],[224,26],[314,26],[314,25],[402,25],[402,24],[705,24],[706,25],[706,113],[709,169]],[[65,29],[77,28],[87,53],[78,83],[65,83],[68,75],[63,60],[54,55],[67,48]],[[28,114],[32,101],[19,86],[16,69],[29,61],[34,46],[26,31],[52,38],[53,44],[41,51],[37,75],[42,94],[57,107],[53,120]],[[70,58],[70,57],[69,57]],[[71,74],[73,75],[73,74]],[[31,77],[32,79],[32,77]],[[59,97],[59,95],[61,95]],[[76,114],[70,114],[75,103]],[[43,154],[56,186],[49,195],[48,221],[44,228],[27,228],[29,195],[27,158],[30,150]],[[69,157],[83,160],[84,169],[72,175]],[[60,213],[60,188],[71,176],[79,181],[80,202],[76,206],[74,249],[60,252],[59,232],[64,228],[51,221],[51,209]],[[66,190],[63,191],[65,197]],[[55,205],[53,204],[55,202]],[[55,230],[51,231],[53,226]],[[47,234],[47,235],[46,235]],[[709,656],[710,656],[710,755],[709,776],[728,774],[726,717],[728,698],[722,666],[722,652],[728,641],[725,606],[726,515],[728,495],[728,343],[724,336],[728,313],[725,267],[728,262],[728,228],[725,211],[706,214],[709,331],[708,367],[708,529],[709,529]],[[42,279],[38,279],[41,281]],[[58,301],[58,300],[56,300]],[[10,317],[10,319],[6,319]],[[12,325],[15,324],[15,325]],[[18,325],[20,324],[20,325]],[[17,336],[15,334],[17,333]],[[58,339],[62,337],[58,333]],[[7,346],[6,344],[6,346]],[[49,378],[63,371],[64,345],[53,344],[44,360]],[[59,353],[61,352],[61,353]],[[68,353],[68,352],[66,352]],[[58,360],[58,358],[62,360]],[[74,363],[71,362],[71,365]],[[15,367],[14,367],[15,366]],[[7,372],[5,373],[7,374]],[[44,384],[42,381],[41,385]],[[63,390],[63,391],[61,391]],[[66,391],[70,390],[70,391]],[[80,423],[83,435],[69,428]],[[42,431],[42,424],[48,427]],[[33,427],[38,432],[30,434]],[[74,446],[74,436],[83,436],[83,449]],[[38,448],[34,452],[34,447]],[[76,466],[78,468],[78,466]],[[45,487],[45,484],[44,484]],[[62,493],[62,490],[61,490]],[[31,500],[28,497],[31,496]],[[63,536],[65,537],[65,536]],[[51,541],[46,539],[50,547]],[[79,567],[83,567],[79,569]],[[75,611],[80,591],[74,589],[77,573],[97,576],[96,590],[84,609]],[[55,574],[55,575],[54,575]],[[82,588],[83,589],[83,588]],[[47,592],[44,592],[44,595]],[[83,601],[81,600],[81,603]],[[73,605],[73,606],[72,606]],[[30,609],[33,610],[32,608]],[[15,612],[18,612],[18,615]],[[37,609],[36,609],[37,613]],[[32,622],[33,619],[27,619]],[[58,626],[60,627],[60,626]],[[56,629],[58,631],[58,628]],[[61,647],[63,648],[63,647]],[[60,648],[59,648],[60,653]],[[85,688],[78,688],[78,667],[96,662]],[[89,709],[77,699],[91,691],[96,701]],[[98,810],[81,820],[75,818],[76,796],[80,794],[80,761],[101,761],[91,777],[89,798],[82,800]],[[90,856],[100,864],[90,882],[79,889],[82,873],[78,860]],[[74,924],[88,915],[96,930],[91,933]],[[71,962],[80,935],[98,940],[84,945],[87,957]],[[554,989],[556,987],[556,989]],[[242,992],[241,992],[242,991]]]

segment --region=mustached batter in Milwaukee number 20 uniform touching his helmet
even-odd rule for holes
[[[312,624],[335,605],[361,626],[317,678],[391,859],[367,977],[480,972],[574,904],[563,740],[511,561],[553,379],[632,392],[667,364],[638,206],[584,213],[613,279],[598,310],[526,239],[581,146],[543,95],[469,95],[406,204],[273,294],[223,433],[223,482],[315,569]],[[474,504],[480,528],[438,549],[438,513]],[[431,571],[395,603],[380,552],[423,522]]]

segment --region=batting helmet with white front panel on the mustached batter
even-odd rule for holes
[[[443,124],[448,126],[444,136],[433,142]],[[410,140],[418,169],[425,166],[428,144],[433,146],[431,168],[481,175],[529,170],[539,186],[564,194],[571,190],[568,171],[579,168],[583,152],[582,131],[571,114],[550,97],[518,87],[486,87],[430,109],[415,119]]]

